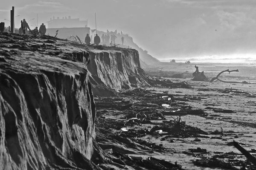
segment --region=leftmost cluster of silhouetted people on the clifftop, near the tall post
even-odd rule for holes
[[[35,27],[35,29],[31,30],[29,28],[29,24],[26,22],[25,19],[20,22],[20,28],[19,28],[19,34],[34,34],[34,35],[45,35],[46,33],[46,27],[44,23],[40,26],[39,30],[38,27]]]

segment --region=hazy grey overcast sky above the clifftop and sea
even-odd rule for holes
[[[0,21],[12,6],[16,25],[70,15],[95,29],[96,12],[98,30],[128,33],[158,59],[256,54],[256,0],[3,0]]]

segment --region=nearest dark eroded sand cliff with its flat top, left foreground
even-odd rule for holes
[[[0,169],[96,168],[88,53],[9,34],[0,45]]]

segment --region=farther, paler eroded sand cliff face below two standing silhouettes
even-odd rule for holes
[[[137,88],[148,85],[145,74],[140,68],[140,58],[137,50],[118,48],[117,50],[90,49],[90,81],[93,84],[93,94],[105,96],[106,91],[100,87],[115,90]]]

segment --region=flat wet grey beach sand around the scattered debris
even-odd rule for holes
[[[137,153],[129,154],[131,156],[141,156],[142,158],[147,158],[148,156],[153,156],[158,159],[164,159],[166,161],[171,161],[174,163],[177,161],[177,164],[182,165],[184,169],[189,170],[210,170],[214,167],[203,167],[195,166],[193,160],[202,159],[202,158],[211,158],[213,156],[219,156],[223,153],[234,152],[235,156],[230,159],[227,157],[218,158],[221,161],[231,162],[232,160],[241,160],[245,161],[245,157],[241,155],[239,150],[237,150],[232,145],[229,145],[229,142],[240,142],[243,147],[250,151],[256,149],[256,84],[240,84],[240,83],[223,83],[219,81],[215,82],[197,82],[192,81],[191,76],[192,72],[195,71],[195,64],[185,65],[174,63],[172,65],[165,65],[161,68],[152,68],[146,70],[147,73],[151,74],[152,72],[157,72],[157,70],[162,70],[163,72],[172,72],[172,74],[177,73],[186,73],[186,79],[177,79],[177,78],[167,78],[171,79],[173,82],[182,82],[186,81],[192,88],[165,88],[162,86],[148,87],[145,90],[150,91],[152,94],[162,94],[167,96],[174,96],[174,102],[177,103],[171,105],[170,108],[160,107],[158,103],[157,107],[155,105],[145,103],[148,96],[120,96],[123,100],[128,100],[132,104],[130,110],[118,111],[118,109],[111,108],[98,108],[98,116],[104,116],[106,119],[113,119],[118,121],[126,122],[127,119],[123,119],[125,115],[128,115],[131,111],[134,111],[142,108],[152,108],[154,111],[174,111],[179,107],[183,106],[189,107],[192,109],[202,109],[207,113],[206,115],[191,115],[187,114],[181,116],[182,121],[186,122],[186,125],[191,125],[194,127],[199,127],[201,130],[207,132],[207,135],[202,135],[203,137],[168,137],[165,134],[151,135],[147,134],[146,136],[137,137],[135,139],[141,139],[147,142],[155,143],[160,146],[168,148],[168,151],[156,151],[145,152],[145,150],[138,150]],[[199,71],[204,71],[205,75],[211,79],[215,77],[219,72],[230,69],[236,70],[239,69],[239,72],[234,73],[224,73],[219,78],[225,81],[250,81],[256,82],[256,68],[253,65],[222,65],[222,64],[198,64]],[[171,76],[171,75],[170,75]],[[227,91],[226,88],[237,89],[241,93],[234,91]],[[144,89],[144,88],[143,88]],[[244,92],[244,93],[243,93]],[[116,97],[114,100],[120,99]],[[144,99],[145,100],[144,100]],[[96,103],[102,102],[103,98],[96,98]],[[104,99],[103,99],[104,100]],[[110,99],[107,99],[110,100]],[[183,101],[180,101],[183,100]],[[164,101],[162,101],[164,102]],[[166,101],[167,102],[167,101]],[[164,103],[163,103],[164,104]],[[229,110],[230,113],[221,113],[220,110]],[[166,120],[172,120],[173,117],[177,116],[165,116]],[[153,123],[161,123],[164,120],[151,120]],[[155,125],[152,124],[141,124],[141,125],[119,125],[120,127],[128,127],[129,129],[140,130],[140,129],[151,129]],[[221,132],[221,128],[225,136],[220,134],[211,134],[215,130]],[[111,129],[111,128],[110,128]],[[120,129],[112,128],[112,132],[119,134]],[[126,133],[126,132],[122,132]],[[207,136],[207,138],[206,138]],[[130,138],[133,139],[133,138]],[[195,140],[196,139],[196,140]],[[100,143],[100,142],[99,142]],[[189,149],[201,147],[202,149],[207,149],[208,153],[191,153]],[[255,153],[252,153],[255,154]],[[238,169],[241,166],[234,166]],[[252,167],[251,167],[252,168]],[[223,169],[218,167],[218,169]]]

